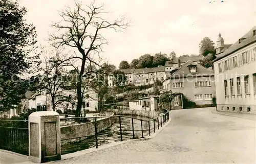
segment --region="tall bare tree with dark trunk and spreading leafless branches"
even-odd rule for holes
[[[101,59],[102,46],[108,43],[102,32],[106,29],[120,31],[129,25],[128,22],[125,22],[124,17],[120,17],[113,22],[105,20],[102,16],[104,13],[103,5],[96,6],[93,2],[86,8],[82,8],[82,4],[75,1],[75,10],[67,7],[66,11],[60,12],[62,20],[53,24],[53,27],[61,33],[50,37],[55,48],[70,46],[79,52],[79,55],[72,55],[61,61],[61,63],[66,62],[73,66],[78,74],[76,116],[79,116],[82,106],[81,87],[84,68],[86,64],[99,65],[96,62],[95,55],[98,55],[98,58]],[[78,61],[80,66],[76,67],[71,63],[72,60]]]

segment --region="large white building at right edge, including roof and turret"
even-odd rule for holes
[[[217,110],[256,113],[256,26],[216,57]]]

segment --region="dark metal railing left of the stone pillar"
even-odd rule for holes
[[[0,149],[29,154],[27,120],[0,120]]]

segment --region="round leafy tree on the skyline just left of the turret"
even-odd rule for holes
[[[215,54],[214,42],[209,37],[204,37],[199,43],[200,55]]]

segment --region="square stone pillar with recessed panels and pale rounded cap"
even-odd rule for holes
[[[60,160],[60,123],[56,111],[38,111],[29,115],[29,160],[42,163]]]

